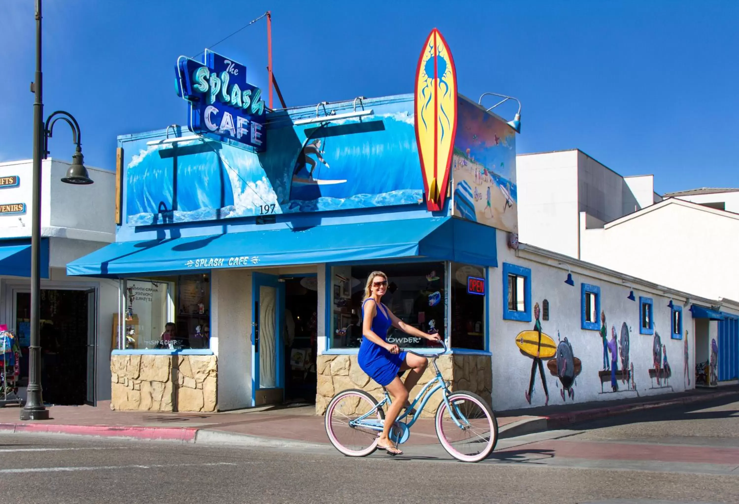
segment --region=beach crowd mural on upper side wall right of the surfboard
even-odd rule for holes
[[[518,232],[516,132],[461,96],[452,188],[455,216]]]

